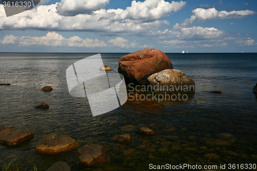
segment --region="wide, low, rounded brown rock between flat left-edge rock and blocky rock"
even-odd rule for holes
[[[79,143],[66,135],[49,134],[39,140],[35,151],[42,154],[58,154],[75,149]]]

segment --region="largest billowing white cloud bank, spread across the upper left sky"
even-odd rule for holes
[[[63,0],[61,3],[36,6],[32,10],[14,15],[13,17],[6,17],[5,13],[0,11],[0,29],[89,31],[101,35],[138,35],[149,29],[156,30],[162,25],[169,25],[168,21],[158,19],[171,12],[180,10],[186,4],[186,2],[182,1],[171,3],[164,0],[133,1],[132,5],[125,10],[100,9],[90,14],[87,14],[84,6],[80,5],[83,9],[78,10],[80,14],[75,15],[77,14],[75,10],[77,6],[70,5],[69,11],[68,7],[66,8],[65,6],[65,2],[66,0]],[[78,2],[82,1],[76,1],[75,5]],[[94,3],[95,1],[85,2]],[[107,3],[105,0],[97,0],[96,2],[102,3],[102,5],[104,2]],[[62,8],[60,4],[64,4]],[[101,5],[96,6],[101,7]],[[3,7],[3,5],[0,5],[0,7]],[[93,7],[91,10],[93,10]]]

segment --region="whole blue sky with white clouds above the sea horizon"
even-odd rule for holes
[[[6,17],[0,52],[257,52],[257,1],[41,0]]]

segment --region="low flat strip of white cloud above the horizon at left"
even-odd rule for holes
[[[5,35],[3,40],[0,40],[2,45],[15,45],[15,46],[41,46],[41,47],[86,47],[86,48],[135,48],[140,47],[136,41],[128,41],[123,37],[116,37],[107,42],[93,39],[82,39],[79,36],[72,36],[66,39],[59,33],[48,32],[45,36],[14,36],[12,34]],[[147,45],[143,45],[144,47]]]

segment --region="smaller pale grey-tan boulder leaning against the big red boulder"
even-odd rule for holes
[[[195,82],[177,69],[166,69],[148,77],[154,91],[194,91]]]

